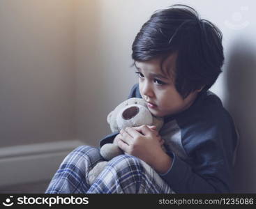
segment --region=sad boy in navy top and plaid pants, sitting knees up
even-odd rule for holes
[[[154,13],[133,42],[139,84],[129,98],[146,100],[151,114],[164,118],[162,129],[128,127],[102,139],[100,146],[113,142],[128,155],[110,160],[93,185],[87,174],[103,158],[97,148],[80,146],[46,193],[231,192],[237,136],[220,99],[208,91],[223,65],[221,41],[218,28],[193,8]]]

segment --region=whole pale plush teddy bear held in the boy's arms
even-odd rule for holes
[[[130,98],[121,102],[121,104],[107,115],[107,123],[110,125],[112,132],[119,132],[126,127],[136,127],[140,125],[155,125],[156,130],[160,130],[163,126],[163,118],[153,116],[142,98]],[[116,144],[103,145],[100,148],[100,155],[102,155],[106,161],[98,162],[98,164],[89,171],[89,184],[92,185],[109,160],[121,154],[123,154],[123,150]]]

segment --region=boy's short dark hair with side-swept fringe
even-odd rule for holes
[[[199,19],[196,10],[176,4],[156,11],[143,24],[133,42],[132,58],[134,62],[149,61],[177,53],[174,82],[186,98],[216,82],[224,61],[222,39],[221,31],[208,20]]]

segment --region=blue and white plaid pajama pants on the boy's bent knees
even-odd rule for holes
[[[132,155],[114,157],[89,185],[89,171],[103,160],[98,148],[79,146],[65,157],[45,193],[174,193],[156,171]]]

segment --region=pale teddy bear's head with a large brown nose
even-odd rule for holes
[[[107,123],[110,124],[112,132],[140,125],[156,125],[156,129],[160,130],[163,118],[153,116],[143,99],[130,98],[121,102],[108,114]]]

